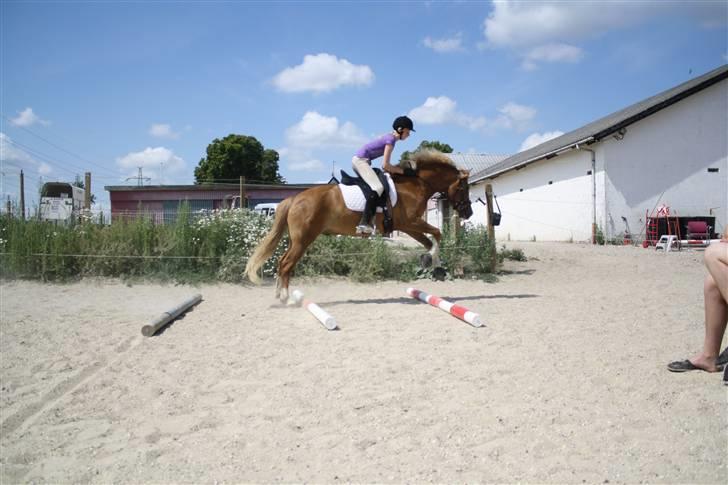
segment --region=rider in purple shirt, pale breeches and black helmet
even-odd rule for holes
[[[389,173],[398,173],[405,175],[414,175],[412,169],[402,169],[401,167],[389,163],[392,157],[394,144],[399,140],[406,140],[410,132],[415,131],[412,120],[406,116],[399,116],[392,123],[392,131],[370,141],[361,147],[351,159],[354,171],[372,188],[372,194],[367,198],[364,212],[361,214],[361,221],[356,226],[357,234],[371,234],[374,232],[372,227],[372,218],[377,210],[377,200],[384,192],[384,187],[379,181],[377,174],[372,170],[372,160],[384,155],[382,169]]]

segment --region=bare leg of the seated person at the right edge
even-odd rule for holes
[[[703,294],[705,298],[705,339],[703,351],[690,359],[693,365],[710,372],[719,368],[715,359],[728,321],[728,244],[718,243],[705,250],[705,277]]]

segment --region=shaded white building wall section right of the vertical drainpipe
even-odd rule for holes
[[[704,89],[605,140],[608,237],[644,236],[645,212],[667,205],[679,216],[728,214],[728,81]],[[708,172],[717,168],[717,173]]]

